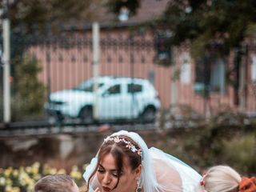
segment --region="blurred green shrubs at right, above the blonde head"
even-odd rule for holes
[[[256,124],[253,120],[226,107],[205,122],[194,118],[193,110],[187,109],[186,112],[170,114],[170,111],[165,111],[162,115],[165,117],[162,126],[173,125],[162,127],[170,134],[162,149],[197,169],[227,164],[242,174],[256,172]],[[186,125],[191,129],[186,130]],[[177,137],[175,131],[167,128],[179,128],[181,132]]]

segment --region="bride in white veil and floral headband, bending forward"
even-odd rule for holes
[[[134,132],[120,130],[104,139],[83,174],[94,192],[198,192],[202,177],[184,162]]]

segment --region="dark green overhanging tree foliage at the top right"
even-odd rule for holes
[[[122,1],[123,2],[123,1]],[[132,13],[140,5],[140,0],[126,6]],[[120,2],[110,0],[109,9],[118,14]],[[212,48],[220,56],[240,47],[246,37],[256,33],[256,2],[254,0],[174,0],[166,7],[162,18],[147,23],[164,25],[172,33],[170,43],[181,45],[191,43],[192,57],[202,58]]]

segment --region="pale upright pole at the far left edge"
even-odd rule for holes
[[[2,18],[3,37],[3,121],[10,122],[10,19],[8,0],[4,0]]]

